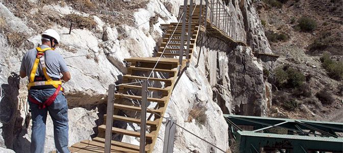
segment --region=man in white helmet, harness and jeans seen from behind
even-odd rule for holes
[[[70,80],[63,57],[54,51],[60,42],[59,34],[52,29],[41,35],[42,45],[29,50],[21,61],[20,77],[28,76],[28,101],[32,113],[31,152],[44,152],[47,112],[54,122],[54,139],[57,152],[68,149],[68,106],[61,87],[62,80]],[[63,77],[60,77],[62,73]]]

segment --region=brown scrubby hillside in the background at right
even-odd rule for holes
[[[307,0],[255,2],[273,53],[281,55],[275,67],[291,67],[305,77],[299,79],[303,82],[299,87],[278,85],[281,73],[269,79],[279,90],[273,92],[273,108],[269,115],[343,121],[342,3]],[[327,60],[323,63],[324,55]],[[325,64],[332,61],[337,66],[330,71]]]

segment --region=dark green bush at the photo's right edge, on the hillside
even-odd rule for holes
[[[340,81],[343,79],[343,62],[334,61],[330,58],[329,53],[324,53],[321,57],[323,67],[331,79]]]

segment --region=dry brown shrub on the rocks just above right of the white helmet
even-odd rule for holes
[[[63,19],[65,19],[66,21],[70,21],[73,22],[74,25],[73,27],[79,28],[79,29],[93,29],[96,26],[96,22],[94,20],[92,20],[89,17],[84,17],[84,16],[80,16],[77,14],[68,14],[66,16],[63,17]],[[65,27],[68,27],[69,25],[65,25]]]

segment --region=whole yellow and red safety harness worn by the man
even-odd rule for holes
[[[54,103],[59,91],[63,92],[63,88],[61,87],[62,81],[60,79],[55,79],[55,78],[52,79],[46,73],[44,53],[46,50],[52,50],[52,48],[47,47],[47,48],[41,49],[40,47],[37,47],[36,49],[37,49],[37,56],[33,64],[31,73],[29,75],[28,89],[30,90],[30,89],[56,88],[55,93],[51,95],[48,99],[46,99],[43,103],[39,103],[38,100],[31,97],[30,95],[28,96],[29,100],[32,103],[39,105],[39,109],[44,109]],[[42,67],[44,76],[35,76],[39,63]]]

